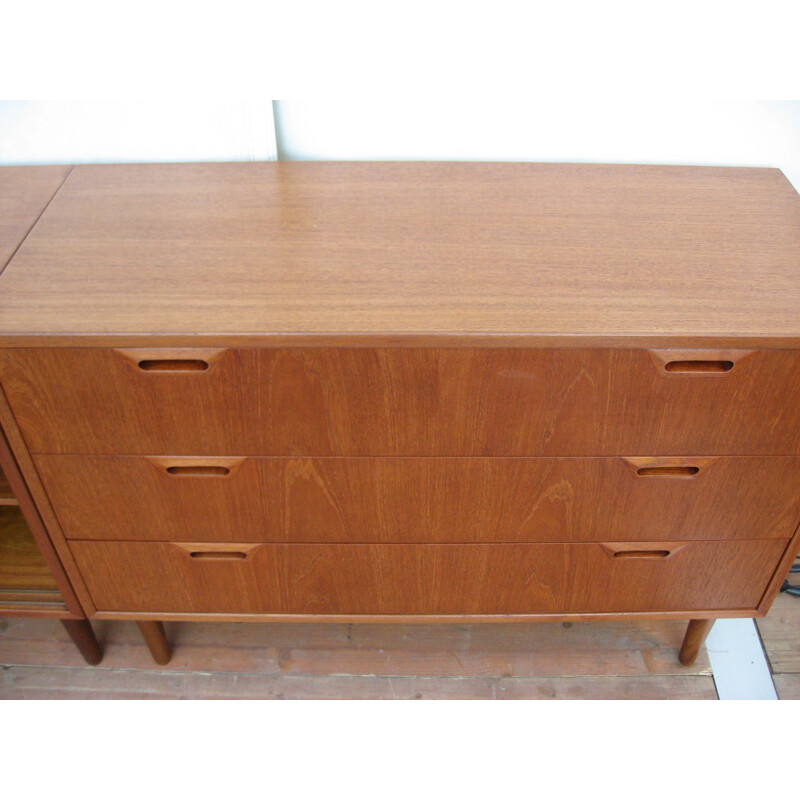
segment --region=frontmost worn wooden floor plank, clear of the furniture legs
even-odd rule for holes
[[[683,699],[716,698],[705,676],[442,678],[238,675],[9,667],[8,699]]]

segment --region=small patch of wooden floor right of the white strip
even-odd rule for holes
[[[792,582],[800,582],[797,578],[792,576]],[[800,597],[779,594],[757,624],[778,697],[800,700]]]

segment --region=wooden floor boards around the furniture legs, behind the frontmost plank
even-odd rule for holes
[[[263,675],[572,677],[709,675],[705,651],[682,667],[685,623],[313,625],[168,623],[173,659],[162,671]],[[100,669],[151,670],[131,622],[95,623]],[[83,666],[51,620],[0,620],[0,664]]]

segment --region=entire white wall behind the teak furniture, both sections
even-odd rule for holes
[[[800,102],[0,102],[0,163],[287,159],[780,167],[800,186]],[[276,142],[277,132],[277,142]]]

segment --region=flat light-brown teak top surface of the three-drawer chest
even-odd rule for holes
[[[778,170],[81,165],[0,278],[0,341],[473,332],[798,342],[798,246],[800,202]]]

